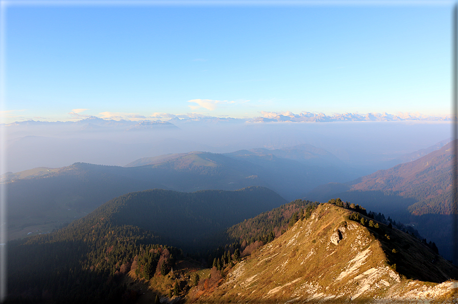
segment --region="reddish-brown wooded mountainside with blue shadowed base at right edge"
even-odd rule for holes
[[[305,197],[320,201],[340,197],[382,212],[414,226],[421,235],[436,242],[444,257],[452,259],[451,173],[455,144],[456,141],[448,142],[412,162],[378,170],[348,183],[321,185]]]

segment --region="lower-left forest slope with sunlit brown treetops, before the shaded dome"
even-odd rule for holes
[[[151,275],[173,266],[181,250],[159,245],[151,231],[114,225],[105,218],[83,218],[63,229],[9,242],[11,302],[120,303],[131,297],[122,284],[132,265]],[[163,266],[162,266],[163,264]],[[141,265],[140,265],[141,266]],[[167,270],[167,271],[168,271]]]

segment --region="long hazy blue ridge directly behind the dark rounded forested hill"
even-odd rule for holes
[[[338,165],[327,151],[301,145],[232,154],[164,155],[126,167],[75,163],[10,172],[2,175],[2,181],[7,182],[9,233],[14,239],[51,231],[119,195],[154,188],[194,192],[262,186],[291,200],[320,184],[348,180],[351,173]]]

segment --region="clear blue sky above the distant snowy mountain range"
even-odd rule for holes
[[[303,4],[12,1],[4,121],[449,113],[451,5]]]

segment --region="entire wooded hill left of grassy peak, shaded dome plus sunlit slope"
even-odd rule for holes
[[[205,254],[216,245],[203,240],[284,202],[261,187],[119,196],[56,232],[11,241],[10,294],[75,303],[123,301],[129,294],[120,282],[131,267],[147,279],[165,275],[182,255],[170,245]]]

